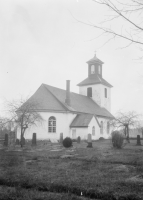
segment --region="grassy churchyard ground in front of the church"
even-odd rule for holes
[[[143,199],[143,146],[134,140],[117,150],[104,140],[86,147],[1,148],[0,199]]]

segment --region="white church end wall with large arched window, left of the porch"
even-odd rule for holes
[[[60,133],[63,133],[64,138],[70,136],[69,125],[76,117],[76,114],[54,112],[41,112],[40,114],[43,117],[42,124],[37,124],[37,126],[28,128],[25,132],[26,139],[31,139],[33,133],[37,133],[37,139],[59,139]],[[48,119],[51,116],[56,118],[56,133],[48,132]],[[20,129],[17,130],[17,138],[20,138]]]

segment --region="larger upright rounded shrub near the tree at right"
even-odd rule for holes
[[[124,137],[119,131],[112,132],[112,144],[113,147],[121,149],[123,147]]]

